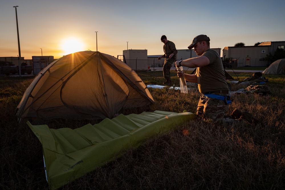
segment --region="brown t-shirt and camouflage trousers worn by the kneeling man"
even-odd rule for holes
[[[209,98],[204,94],[229,95],[223,64],[219,54],[214,50],[208,49],[201,56],[209,58],[210,64],[197,67],[196,70],[198,89],[202,93],[196,115],[203,119],[221,120],[226,116],[229,105],[223,100]]]

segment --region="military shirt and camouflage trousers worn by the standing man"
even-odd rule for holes
[[[176,54],[177,50],[175,47],[175,44],[168,40],[166,44],[163,45],[163,51],[164,51],[164,65],[163,65],[163,76],[166,79],[166,82],[171,84],[170,79],[170,68],[172,67],[172,64],[176,61]],[[169,59],[170,54],[174,54],[171,59]]]

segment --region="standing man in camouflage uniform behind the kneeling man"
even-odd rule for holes
[[[157,59],[160,60],[161,58],[165,58],[163,65],[163,76],[166,79],[166,81],[163,84],[171,86],[170,68],[176,60],[177,50],[175,44],[167,40],[165,35],[162,35],[160,40],[162,43],[164,43],[163,45],[164,54],[158,57]]]

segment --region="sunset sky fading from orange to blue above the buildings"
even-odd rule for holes
[[[211,48],[285,41],[285,1],[3,0],[0,3],[0,57],[64,55],[91,50],[117,57],[127,49],[162,55],[160,37],[187,49],[199,34]],[[127,43],[128,42],[128,43]],[[42,49],[40,49],[42,48]]]

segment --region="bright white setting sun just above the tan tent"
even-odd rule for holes
[[[62,42],[64,55],[84,51],[84,44],[77,38],[66,38]]]

